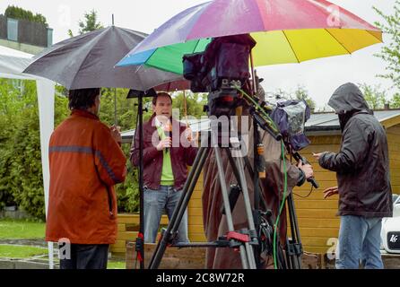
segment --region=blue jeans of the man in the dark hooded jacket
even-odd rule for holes
[[[383,269],[380,256],[382,218],[344,215],[340,218],[336,269]]]

